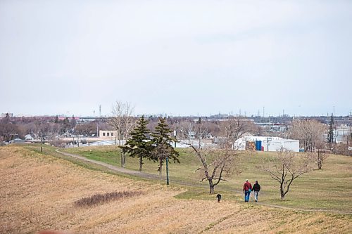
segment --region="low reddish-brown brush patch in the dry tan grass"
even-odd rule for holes
[[[122,200],[127,197],[134,197],[141,195],[142,192],[139,191],[123,191],[123,192],[113,192],[113,193],[96,193],[90,197],[83,197],[80,200],[75,201],[75,206],[77,207],[90,207],[95,204],[102,204],[104,202],[110,202],[112,200]]]

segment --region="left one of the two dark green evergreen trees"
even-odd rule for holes
[[[143,158],[148,158],[151,160],[151,151],[153,150],[152,142],[147,138],[149,134],[149,129],[146,128],[148,120],[144,119],[142,116],[137,121],[137,126],[134,127],[125,145],[119,146],[122,148],[123,153],[128,153],[130,157],[139,158],[139,171],[142,171]]]

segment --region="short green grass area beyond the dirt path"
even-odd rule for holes
[[[177,150],[180,152],[181,163],[169,164],[170,183],[189,184],[196,187],[178,197],[196,198],[200,196],[201,199],[206,199],[208,183],[207,181],[200,183],[199,174],[195,173],[196,169],[201,166],[199,160],[190,149]],[[65,151],[120,166],[120,150],[115,146],[71,148]],[[330,155],[323,164],[323,169],[315,169],[297,178],[284,201],[280,200],[279,183],[272,180],[268,173],[258,169],[261,164],[265,164],[268,160],[275,160],[275,158],[277,158],[275,152],[245,152],[237,162],[241,173],[228,178],[228,182],[221,182],[215,187],[215,193],[225,194],[225,199],[241,200],[241,189],[248,178],[251,183],[255,180],[259,181],[262,187],[260,202],[265,204],[299,209],[352,211],[352,157]],[[127,157],[126,167],[137,171],[139,168],[137,158]],[[157,163],[144,161],[143,171],[158,174],[157,169]],[[165,171],[163,173],[165,176]]]

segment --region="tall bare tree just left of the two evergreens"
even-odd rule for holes
[[[130,103],[122,103],[116,101],[113,104],[112,116],[110,118],[110,124],[117,131],[116,140],[118,145],[122,145],[122,141],[127,140],[130,131],[135,124],[135,118],[132,116],[134,108]],[[121,167],[125,167],[126,155],[125,152],[121,152]]]

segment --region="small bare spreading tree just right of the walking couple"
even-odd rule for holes
[[[284,200],[285,195],[289,193],[292,182],[311,170],[309,162],[308,157],[298,158],[294,152],[283,150],[278,152],[276,162],[268,163],[262,169],[267,171],[271,178],[279,183],[281,200]]]

